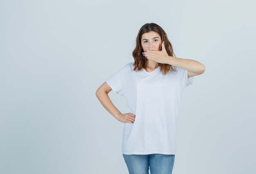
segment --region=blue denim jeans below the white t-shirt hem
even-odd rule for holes
[[[129,174],[171,174],[173,171],[174,155],[149,154],[149,155],[125,155],[124,161]]]

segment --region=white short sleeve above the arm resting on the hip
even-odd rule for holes
[[[119,69],[115,74],[113,74],[106,83],[112,88],[112,90],[119,94],[124,94],[124,89],[126,86],[126,75],[127,75],[127,65]]]

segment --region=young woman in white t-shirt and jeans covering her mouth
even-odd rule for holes
[[[165,31],[157,24],[139,30],[126,64],[97,90],[101,104],[124,122],[122,153],[130,174],[171,174],[176,152],[175,131],[180,98],[204,65],[176,58]],[[108,97],[113,90],[126,98],[121,113]]]

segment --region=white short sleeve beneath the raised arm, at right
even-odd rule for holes
[[[176,70],[175,72],[175,79],[177,81],[178,84],[180,84],[180,86],[182,87],[186,87],[189,86],[191,84],[193,84],[193,77],[188,77],[188,71],[179,67],[174,67],[174,69]]]

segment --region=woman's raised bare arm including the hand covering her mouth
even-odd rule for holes
[[[154,60],[155,62],[169,64],[188,70],[188,77],[200,75],[204,73],[205,70],[204,64],[201,64],[198,61],[169,56],[164,47],[164,42],[162,43],[162,51],[147,50],[143,54],[147,59]]]

